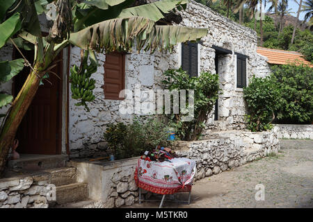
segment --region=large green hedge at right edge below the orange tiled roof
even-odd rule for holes
[[[280,123],[313,121],[313,68],[305,65],[276,65],[273,74],[281,92],[276,109]]]

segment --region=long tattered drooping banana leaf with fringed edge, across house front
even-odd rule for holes
[[[207,28],[155,26],[146,17],[110,19],[72,33],[70,43],[95,51],[131,51],[136,39],[137,50],[171,49],[178,42],[199,40]]]

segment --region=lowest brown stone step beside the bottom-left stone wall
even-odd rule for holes
[[[88,184],[83,182],[72,183],[56,187],[56,203],[72,203],[88,198]]]

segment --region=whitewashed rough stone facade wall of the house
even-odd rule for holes
[[[208,28],[209,33],[202,38],[199,45],[200,70],[215,73],[215,50],[212,45],[220,46],[232,51],[231,55],[220,58],[218,69],[220,70],[220,87],[223,94],[218,99],[219,117],[214,121],[214,111],[209,115],[207,121],[207,133],[212,130],[234,130],[245,128],[244,114],[246,108],[243,101],[242,89],[236,88],[236,53],[249,56],[247,65],[247,76],[266,76],[270,69],[266,58],[257,54],[257,35],[255,31],[236,24],[210,8],[191,1],[186,10],[179,12],[182,15],[180,26],[191,26],[195,28]],[[79,49],[74,47],[71,51],[70,65],[79,65]],[[167,69],[177,69],[180,66],[180,45],[174,47],[172,53],[155,52],[153,54],[129,53],[125,62],[125,88],[134,92],[136,85],[141,85],[141,108],[151,98],[145,96],[145,89],[157,92],[161,89],[163,72]],[[98,54],[99,67],[93,74],[97,80],[94,94],[95,101],[90,103],[90,112],[77,107],[77,101],[70,96],[70,151],[72,157],[84,157],[105,151],[104,131],[108,123],[131,123],[135,115],[120,114],[119,105],[122,101],[105,99],[102,89],[104,85],[104,62],[105,55]]]

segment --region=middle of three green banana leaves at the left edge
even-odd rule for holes
[[[8,80],[19,74],[24,68],[24,59],[19,58],[12,61],[1,61],[0,62],[0,83],[6,83]]]

